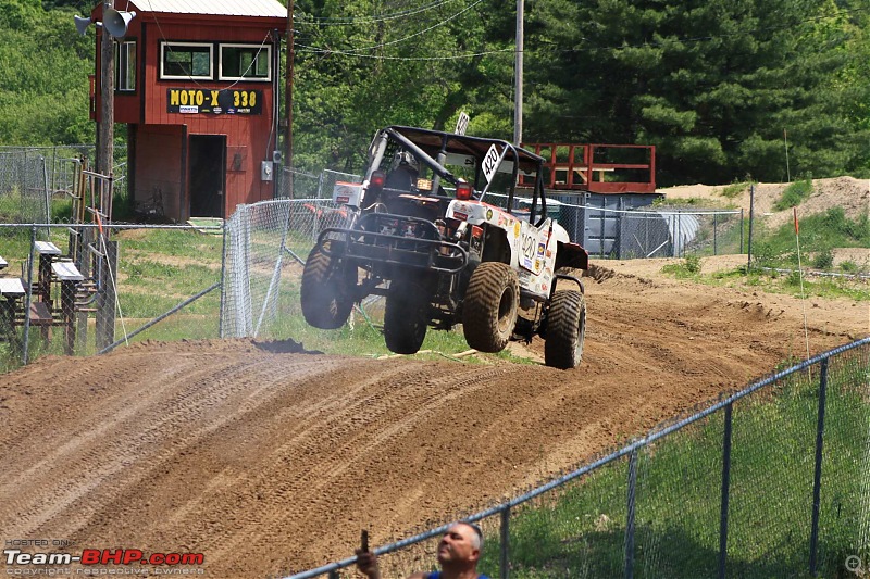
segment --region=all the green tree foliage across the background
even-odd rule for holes
[[[87,8],[0,0],[0,142],[92,140]],[[298,168],[359,171],[377,127],[461,111],[512,138],[512,4],[299,0],[294,22]],[[663,186],[870,175],[866,0],[548,0],[524,22],[526,142],[655,144]]]

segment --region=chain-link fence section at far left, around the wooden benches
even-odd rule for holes
[[[40,239],[40,231],[49,231]],[[0,224],[0,373],[220,336],[221,227]]]

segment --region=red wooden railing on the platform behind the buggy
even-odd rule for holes
[[[656,191],[656,148],[648,144],[523,143],[547,160],[547,189],[594,193],[654,193]],[[626,160],[632,162],[612,162]],[[639,161],[639,162],[638,162]],[[520,175],[520,187],[531,187]]]

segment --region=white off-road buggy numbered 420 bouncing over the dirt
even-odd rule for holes
[[[355,302],[380,294],[393,352],[420,350],[428,326],[461,323],[478,351],[539,335],[548,366],[575,367],[586,303],[573,274],[587,268],[588,255],[547,214],[543,163],[498,139],[380,130],[363,181],[335,186],[350,225],[323,229],[308,256],[306,320],[338,328]],[[534,185],[519,188],[520,174]]]

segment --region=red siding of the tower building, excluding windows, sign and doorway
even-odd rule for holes
[[[147,8],[147,7],[146,7]],[[130,9],[133,10],[133,9]],[[101,20],[101,9],[94,11]],[[115,96],[115,122],[136,124],[134,143],[137,156],[135,199],[142,203],[150,199],[156,189],[163,196],[166,216],[182,219],[188,215],[190,196],[189,168],[183,167],[187,150],[184,142],[189,135],[226,136],[226,191],[224,214],[232,215],[236,205],[272,199],[272,181],[260,179],[262,161],[269,161],[274,150],[273,81],[238,83],[203,80],[160,80],[160,42],[174,41],[244,42],[260,45],[268,42],[274,50],[269,32],[286,27],[282,18],[216,17],[202,15],[139,13],[127,28],[127,38],[138,40],[137,83],[135,95]],[[99,40],[98,35],[98,40]],[[97,87],[99,87],[99,45],[97,50]],[[216,59],[216,54],[215,54]],[[273,71],[273,76],[278,71]],[[216,75],[216,66],[215,66]],[[169,89],[216,90],[258,90],[261,95],[260,114],[212,114],[212,113],[170,113]],[[99,90],[97,90],[97,116],[99,116]],[[183,127],[186,126],[186,134]],[[270,139],[270,135],[272,138]],[[234,166],[236,152],[240,154],[240,165]]]

